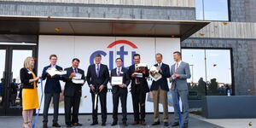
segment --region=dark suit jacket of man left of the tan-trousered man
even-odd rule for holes
[[[129,70],[128,70],[128,73],[129,73],[129,76],[131,77],[131,74],[134,73],[135,71],[135,65],[131,65],[129,67]],[[143,93],[147,93],[149,92],[149,88],[148,88],[148,82],[147,82],[147,79],[148,79],[148,76],[149,76],[149,73],[148,73],[148,67],[146,67],[146,73],[143,74],[143,78],[140,78],[140,86],[141,87],[141,90]],[[135,93],[135,79],[136,78],[131,78],[131,94],[134,94]]]

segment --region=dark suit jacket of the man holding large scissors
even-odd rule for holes
[[[98,88],[101,84],[105,86],[104,90],[102,92],[108,91],[108,79],[109,79],[109,71],[108,67],[104,64],[101,64],[100,66],[100,75],[97,77],[96,74],[96,65],[90,65],[87,70],[86,80],[88,85],[93,84]],[[90,92],[93,92],[90,90]]]

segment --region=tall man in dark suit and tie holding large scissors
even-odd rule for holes
[[[87,83],[90,86],[90,93],[92,99],[92,119],[93,122],[90,125],[98,124],[97,117],[97,105],[95,109],[95,93],[98,93],[100,97],[101,110],[102,110],[102,126],[106,125],[107,121],[107,92],[108,92],[108,80],[109,71],[106,65],[101,63],[102,55],[95,55],[95,64],[90,65],[87,70]],[[97,92],[96,92],[97,91]]]

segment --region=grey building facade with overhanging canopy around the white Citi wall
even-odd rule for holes
[[[0,46],[5,57],[0,72],[1,78],[9,78],[2,83],[14,79],[9,76],[17,72],[14,63],[23,61],[19,55],[42,55],[40,36],[73,36],[74,44],[76,36],[153,38],[155,44],[157,38],[177,38],[177,50],[192,73],[191,108],[200,107],[201,96],[226,95],[227,90],[237,96],[256,95],[255,5],[253,0],[1,0]],[[165,57],[172,60],[172,54]],[[3,102],[12,93],[2,89],[0,114],[19,111],[7,102],[11,98]]]

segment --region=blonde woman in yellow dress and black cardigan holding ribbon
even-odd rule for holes
[[[24,67],[20,69],[20,80],[22,84],[22,116],[23,127],[32,127],[33,110],[39,108],[37,81],[40,79],[34,69],[34,59],[26,57]]]

